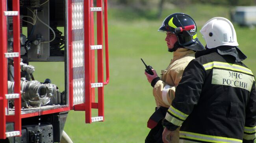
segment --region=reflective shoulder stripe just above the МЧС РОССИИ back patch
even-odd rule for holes
[[[224,62],[210,62],[203,65],[205,70],[212,69],[213,67],[219,67],[223,69],[231,69],[233,71],[245,72],[247,74],[253,75],[252,71],[246,67],[241,65],[236,65],[232,63],[224,63]]]

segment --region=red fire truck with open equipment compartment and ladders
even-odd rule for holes
[[[107,0],[0,1],[0,143],[60,142],[69,110],[104,121]],[[30,62],[64,62],[65,90]]]

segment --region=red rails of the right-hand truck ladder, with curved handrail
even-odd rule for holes
[[[98,116],[102,116],[104,120],[104,87],[98,87],[98,103],[95,103],[94,90],[91,83],[94,82],[94,52],[91,45],[94,45],[94,28],[93,28],[93,12],[91,7],[93,1],[84,1],[84,61],[85,61],[85,103],[74,105],[74,110],[85,110],[85,123],[91,123],[91,109],[98,109]],[[96,7],[102,7],[102,0],[96,1]],[[103,11],[103,7],[102,7]],[[97,15],[97,45],[103,45],[103,12],[96,11]],[[103,85],[109,82],[109,60],[108,60],[108,26],[107,26],[107,0],[104,0],[104,24],[105,24],[105,47],[106,47],[106,82],[104,82],[104,66],[103,66],[103,46],[97,49],[97,78],[98,83]]]

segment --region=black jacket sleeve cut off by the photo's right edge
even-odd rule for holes
[[[254,143],[256,133],[256,89],[255,81],[252,85],[249,101],[245,109],[245,128],[243,143]]]

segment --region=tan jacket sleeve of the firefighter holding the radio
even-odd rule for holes
[[[158,105],[169,108],[171,103],[175,97],[176,86],[180,82],[182,78],[182,74],[184,72],[185,67],[188,63],[183,63],[182,65],[176,65],[167,71],[167,75],[169,76],[166,79],[172,80],[174,86],[168,85],[166,82],[162,80],[158,80],[153,88],[153,95],[158,102]]]

